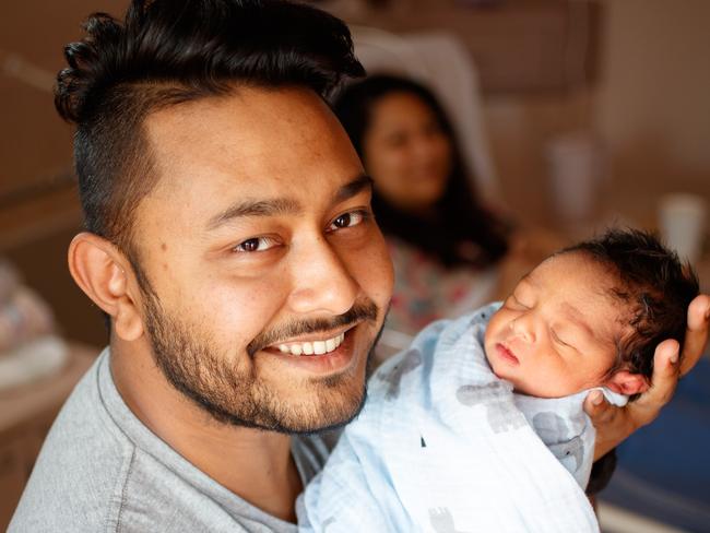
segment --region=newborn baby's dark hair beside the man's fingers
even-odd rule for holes
[[[629,311],[622,320],[631,332],[617,340],[610,375],[624,368],[650,379],[658,344],[675,339],[683,346],[688,305],[699,293],[696,273],[653,234],[637,229],[611,229],[561,251],[568,252],[581,252],[608,269],[616,277],[611,295]]]

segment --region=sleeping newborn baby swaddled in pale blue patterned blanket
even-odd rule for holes
[[[652,236],[612,230],[537,265],[502,306],[425,329],[369,382],[297,504],[304,531],[597,531],[590,389],[649,387],[698,294]]]

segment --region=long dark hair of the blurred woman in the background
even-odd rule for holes
[[[372,208],[379,226],[425,251],[447,266],[473,264],[485,266],[496,262],[507,249],[506,228],[478,202],[468,176],[455,134],[443,108],[425,86],[404,78],[374,75],[346,86],[336,95],[333,109],[367,166],[363,141],[372,121],[372,108],[384,96],[412,94],[434,112],[439,127],[452,146],[451,174],[442,198],[434,205],[430,218],[402,211],[377,193]]]

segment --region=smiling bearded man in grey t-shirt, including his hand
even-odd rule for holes
[[[87,225],[69,265],[110,343],[10,530],[295,531],[328,453],[305,435],[360,408],[392,286],[369,179],[323,102],[362,74],[348,32],[257,0],[134,0],[86,31],[57,91]],[[590,403],[599,453],[667,401],[673,348],[641,410]]]

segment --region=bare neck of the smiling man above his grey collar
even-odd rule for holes
[[[150,352],[133,347],[128,353],[128,346],[111,344],[110,358],[116,388],[133,414],[214,481],[269,514],[295,522],[303,483],[291,437],[216,422],[168,383]]]

